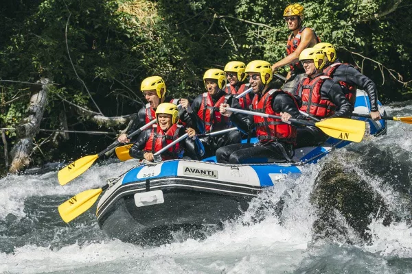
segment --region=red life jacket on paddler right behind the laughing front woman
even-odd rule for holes
[[[220,97],[218,101],[213,104],[209,92],[203,93],[203,100],[201,107],[198,110],[198,116],[205,123],[205,132],[209,133],[213,130],[213,127],[218,127],[218,129],[227,129],[231,126],[229,117],[220,114],[219,106],[225,103],[227,98],[225,96]]]

